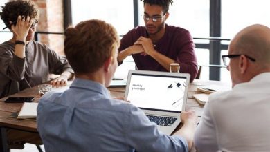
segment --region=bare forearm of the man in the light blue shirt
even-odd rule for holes
[[[191,149],[194,133],[195,133],[196,124],[194,122],[185,122],[181,129],[175,132],[173,135],[179,135],[185,138],[188,142],[188,149]]]

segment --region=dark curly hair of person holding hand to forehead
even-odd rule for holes
[[[0,16],[6,26],[10,24],[10,21],[17,21],[19,15],[29,16],[30,19],[39,18],[39,10],[33,1],[10,1],[1,8]]]

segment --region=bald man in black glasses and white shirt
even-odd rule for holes
[[[210,95],[195,132],[201,151],[270,151],[270,29],[241,30],[222,59],[233,89]]]

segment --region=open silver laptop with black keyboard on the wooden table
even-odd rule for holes
[[[171,135],[185,110],[190,75],[129,70],[125,99],[141,108],[158,129]]]

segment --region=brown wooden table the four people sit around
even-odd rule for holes
[[[208,86],[208,85],[218,85],[218,86],[230,86],[228,82],[219,82],[219,81],[209,81],[209,80],[200,80],[195,79],[190,86],[188,87],[188,99],[186,104],[186,111],[194,110],[197,115],[201,117],[201,113],[204,109],[204,105],[199,104],[192,95],[197,92],[198,86]],[[121,88],[108,88],[111,94],[111,97],[124,97],[125,87]],[[37,86],[33,88],[27,88],[24,91],[15,93],[8,97],[35,97],[34,102],[38,102],[40,96],[38,93]],[[1,129],[1,139],[0,139],[0,151],[8,151],[8,144],[6,140],[6,129],[17,129],[20,131],[28,131],[33,133],[38,133],[37,131],[37,122],[33,120],[18,120],[15,117],[10,117],[12,113],[19,111],[22,106],[22,103],[5,103],[4,100],[7,97],[0,99],[0,129]]]

